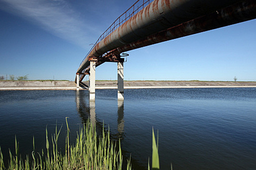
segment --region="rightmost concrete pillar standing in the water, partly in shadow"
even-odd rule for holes
[[[118,100],[124,100],[123,91],[123,62],[118,62]]]

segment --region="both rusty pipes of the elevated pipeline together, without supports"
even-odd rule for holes
[[[234,6],[236,3],[238,6]],[[225,8],[230,5],[233,7]],[[235,8],[238,11],[234,11]],[[240,9],[244,12],[239,12]],[[246,11],[252,16],[248,17]],[[235,16],[230,18],[232,15]],[[254,18],[255,0],[154,0],[100,41],[88,56],[102,56],[112,50],[119,54]],[[77,72],[80,73],[85,68],[89,70],[88,56]]]

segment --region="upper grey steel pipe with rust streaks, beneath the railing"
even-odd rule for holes
[[[129,45],[149,35],[209,15],[241,0],[154,0],[117,30],[100,41],[88,56],[102,54]],[[77,72],[89,67],[87,58]]]

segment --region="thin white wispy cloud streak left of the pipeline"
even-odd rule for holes
[[[0,0],[0,9],[25,17],[50,33],[88,49],[95,32],[65,0]],[[88,42],[90,39],[90,42]]]

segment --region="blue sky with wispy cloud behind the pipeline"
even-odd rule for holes
[[[90,44],[135,1],[0,0],[0,76],[74,81]],[[256,19],[128,51],[124,79],[256,81],[255,40]],[[117,80],[117,64],[96,79]]]

